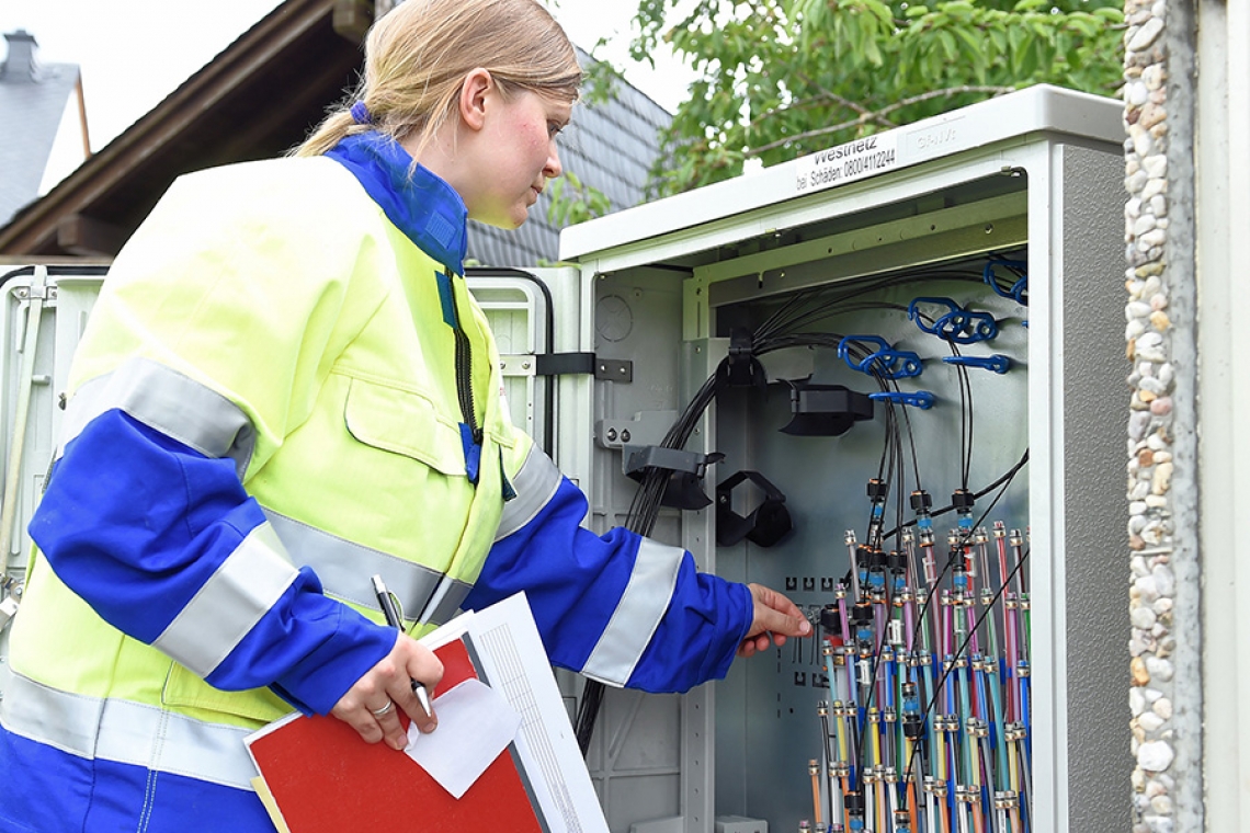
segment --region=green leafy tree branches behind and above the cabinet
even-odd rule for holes
[[[652,196],[1034,84],[1114,95],[1124,67],[1122,0],[640,0],[634,22],[634,59],[665,41],[696,72]]]

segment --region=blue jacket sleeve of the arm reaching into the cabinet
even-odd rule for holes
[[[684,692],[724,677],[751,623],[750,591],[700,573],[676,548],[662,547],[671,567],[648,568],[640,551],[659,545],[624,528],[596,536],[581,526],[585,515],[585,496],[561,477],[529,523],[495,542],[464,607],[525,591],[551,662],[572,671],[610,653],[606,641],[636,643],[628,678],[605,682]],[[628,594],[655,599],[655,616],[630,619],[621,612]]]

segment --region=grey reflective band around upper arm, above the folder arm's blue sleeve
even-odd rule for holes
[[[206,457],[230,457],[240,478],[248,470],[256,443],[248,415],[216,391],[150,358],[131,358],[74,392],[65,407],[58,458],[91,420],[114,408]]]

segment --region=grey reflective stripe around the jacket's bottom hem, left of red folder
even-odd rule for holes
[[[251,789],[256,767],[244,738],[255,729],[206,723],[155,706],[71,694],[9,673],[0,723],[24,738],[88,759]]]

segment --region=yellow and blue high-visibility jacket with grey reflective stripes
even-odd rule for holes
[[[118,256],[30,526],[0,828],[270,829],[242,737],[389,652],[375,573],[431,624],[525,589],[611,684],[726,672],[749,592],[580,526],[509,421],[464,205],[411,167],[371,134],[185,176]]]

